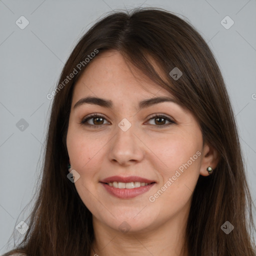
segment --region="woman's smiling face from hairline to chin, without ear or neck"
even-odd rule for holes
[[[173,100],[139,104],[155,97]],[[75,84],[66,143],[93,223],[142,232],[187,216],[205,149],[200,127],[118,51],[98,55]]]

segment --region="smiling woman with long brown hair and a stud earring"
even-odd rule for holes
[[[158,8],[110,13],[47,97],[39,193],[4,256],[255,255],[234,115],[191,24]]]

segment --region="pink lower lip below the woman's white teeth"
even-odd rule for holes
[[[106,183],[100,182],[107,192],[118,197],[118,198],[133,198],[142,193],[148,191],[155,183],[151,183],[145,186],[134,187],[134,188],[116,188],[113,186],[109,186]]]

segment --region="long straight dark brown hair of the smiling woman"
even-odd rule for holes
[[[253,205],[249,193],[236,122],[225,84],[206,42],[188,22],[160,8],[114,11],[96,22],[78,41],[60,75],[51,108],[44,166],[29,229],[11,252],[34,256],[90,255],[92,215],[67,178],[66,133],[74,84],[101,52],[115,49],[149,78],[167,89],[197,118],[204,141],[218,151],[216,169],[199,176],[186,226],[191,256],[255,256],[251,239]],[[161,77],[152,58],[165,74]],[[83,61],[83,62],[82,62]],[[83,63],[77,65],[79,63]],[[173,79],[169,72],[182,72]],[[66,76],[77,71],[73,78]],[[65,83],[63,83],[65,81]],[[59,84],[62,83],[62,86]],[[61,87],[61,88],[60,88]],[[226,234],[221,226],[234,229]]]

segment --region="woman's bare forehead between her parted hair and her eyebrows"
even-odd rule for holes
[[[111,50],[97,55],[83,71],[75,84],[73,101],[85,95],[104,96],[117,101],[153,97],[156,94],[171,96],[127,62],[121,53]]]

